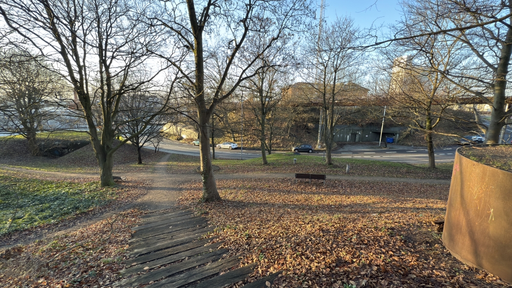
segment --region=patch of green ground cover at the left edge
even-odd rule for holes
[[[97,181],[47,181],[0,171],[0,235],[57,222],[115,198],[114,188],[101,188]]]

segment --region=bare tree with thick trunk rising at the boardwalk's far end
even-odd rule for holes
[[[254,22],[261,18],[272,20],[271,38],[262,52],[265,52],[285,33],[302,29],[304,20],[311,15],[309,2],[303,0],[205,0],[186,2],[163,2],[165,16],[160,16],[160,24],[168,29],[168,34],[181,43],[187,52],[190,65],[176,63],[175,55],[161,55],[180,70],[190,87],[190,95],[197,108],[201,176],[203,180],[203,201],[220,199],[211,169],[209,149],[209,122],[216,106],[230,97],[237,87],[254,73],[249,68],[258,57],[245,65],[239,61],[239,52],[246,39],[254,33]],[[225,31],[225,32],[224,32]],[[225,35],[225,36],[221,36]],[[205,65],[211,65],[205,58],[208,46],[222,49],[226,56],[223,62],[222,77],[214,93],[205,93]],[[226,84],[229,83],[230,87]]]

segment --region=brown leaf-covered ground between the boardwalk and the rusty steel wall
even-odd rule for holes
[[[257,262],[257,279],[283,271],[280,287],[493,287],[497,277],[468,268],[444,248],[447,185],[293,179],[218,180],[223,201],[202,204],[201,183],[179,203],[219,229],[231,255]],[[208,235],[208,237],[211,235]],[[241,286],[241,283],[234,287]]]

